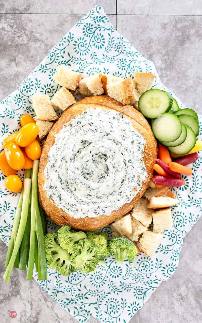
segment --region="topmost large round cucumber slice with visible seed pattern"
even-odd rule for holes
[[[161,113],[168,112],[172,104],[173,99],[167,92],[151,89],[141,95],[138,101],[138,108],[144,117],[155,119]]]

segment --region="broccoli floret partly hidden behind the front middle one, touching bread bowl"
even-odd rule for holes
[[[100,248],[100,259],[103,259],[105,257],[109,256],[109,250],[108,250],[108,234],[102,233],[102,232],[86,232],[87,238],[92,240],[99,248]]]

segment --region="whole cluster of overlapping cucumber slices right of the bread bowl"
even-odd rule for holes
[[[144,117],[152,119],[155,138],[169,151],[183,155],[195,146],[199,125],[194,110],[180,110],[177,101],[159,89],[145,91],[139,99],[138,108]]]

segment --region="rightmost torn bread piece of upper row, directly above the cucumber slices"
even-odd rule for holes
[[[133,74],[133,79],[136,82],[136,89],[138,89],[140,95],[151,89],[154,78],[156,78],[156,76],[152,73],[135,72]]]

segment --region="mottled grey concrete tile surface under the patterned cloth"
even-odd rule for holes
[[[202,114],[201,1],[99,3],[117,30],[154,62],[162,82],[188,107]],[[95,4],[98,1],[1,1],[0,100],[17,88],[61,36]],[[157,288],[131,323],[202,321],[201,231],[200,220],[184,239],[174,276]],[[7,310],[11,309],[17,312],[14,322],[77,323],[34,280],[26,281],[25,273],[14,269],[11,284],[4,283],[6,249],[0,241],[0,322],[9,322]],[[94,318],[89,320],[96,322]]]

